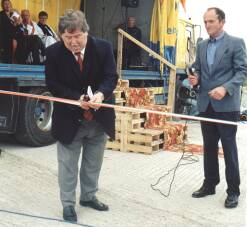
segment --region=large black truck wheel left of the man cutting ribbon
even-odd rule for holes
[[[51,96],[45,88],[32,88],[29,93]],[[53,102],[21,98],[15,137],[22,144],[45,146],[55,142],[51,135]]]

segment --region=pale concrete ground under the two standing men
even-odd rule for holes
[[[201,144],[199,124],[189,123],[188,130],[188,141]],[[99,212],[77,204],[78,222],[82,226],[99,227],[247,226],[246,131],[245,124],[239,127],[237,134],[242,180],[237,208],[224,208],[226,183],[223,158],[220,158],[221,182],[216,195],[195,199],[191,193],[201,186],[203,180],[201,155],[185,153],[167,197],[174,171],[162,178],[155,187],[164,195],[152,190],[151,184],[176,167],[181,152],[161,151],[143,155],[107,150],[98,197],[109,205],[110,211]],[[0,226],[75,226],[37,217],[62,219],[56,146],[30,148],[2,139],[0,147],[3,149],[0,156]],[[79,188],[77,197],[78,194]]]

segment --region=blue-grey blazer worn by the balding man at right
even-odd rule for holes
[[[224,34],[222,43],[216,50],[211,74],[207,64],[209,39],[198,44],[195,68],[199,76],[198,110],[204,112],[209,102],[216,112],[232,112],[240,109],[240,86],[247,79],[247,55],[242,39]],[[223,86],[227,90],[222,100],[209,97],[213,88]]]

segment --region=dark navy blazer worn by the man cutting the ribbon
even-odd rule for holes
[[[83,72],[72,54],[57,42],[47,48],[45,65],[46,85],[53,96],[78,100],[86,94],[88,85],[93,92],[104,94],[105,102],[114,103],[113,90],[117,84],[116,64],[110,43],[88,37],[83,60]],[[91,111],[106,134],[115,138],[114,109],[100,108]],[[83,116],[83,109],[62,103],[54,103],[52,135],[63,143],[70,143]]]

